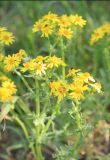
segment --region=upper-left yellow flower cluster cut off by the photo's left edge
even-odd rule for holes
[[[14,42],[14,39],[13,33],[8,32],[5,27],[0,27],[0,44],[10,45]]]

